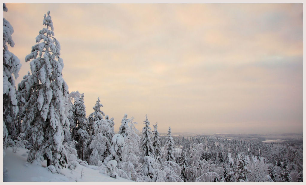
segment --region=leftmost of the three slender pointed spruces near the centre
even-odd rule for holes
[[[142,138],[141,138],[141,150],[144,152],[143,156],[151,156],[154,157],[154,151],[151,141],[151,128],[150,122],[148,121],[148,116],[146,115],[146,119],[144,120],[144,128],[142,129]]]

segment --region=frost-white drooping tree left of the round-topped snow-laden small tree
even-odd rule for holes
[[[93,136],[89,147],[92,149],[90,155],[91,165],[98,165],[98,161],[103,161],[110,155],[110,141],[107,135],[110,135],[111,128],[105,119],[95,121],[95,136]]]

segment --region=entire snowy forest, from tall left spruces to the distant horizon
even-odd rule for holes
[[[101,111],[99,97],[87,117],[84,94],[69,93],[62,77],[64,63],[50,11],[43,18],[45,28],[25,58],[31,72],[17,88],[21,64],[8,49],[14,47],[13,27],[3,18],[3,149],[25,147],[28,162],[47,160],[53,173],[96,165],[111,177],[134,181],[303,181],[299,145],[174,138],[170,127],[161,137],[157,123],[151,131],[147,115],[141,134],[126,114],[116,134],[114,118]]]

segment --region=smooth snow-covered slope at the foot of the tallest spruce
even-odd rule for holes
[[[13,153],[11,147],[5,150],[3,169],[7,168],[7,172],[3,175],[4,182],[132,182],[120,177],[119,179],[114,179],[104,173],[100,173],[97,166],[89,166],[90,168],[86,168],[85,166],[78,165],[75,170],[63,168],[61,174],[53,174],[45,168],[46,161],[40,162],[39,164],[34,164],[34,162],[32,164],[28,163],[28,151],[27,149],[19,148],[16,153]]]

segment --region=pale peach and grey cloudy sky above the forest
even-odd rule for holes
[[[50,10],[69,92],[159,132],[288,133],[303,126],[302,4],[6,4],[21,60]]]

